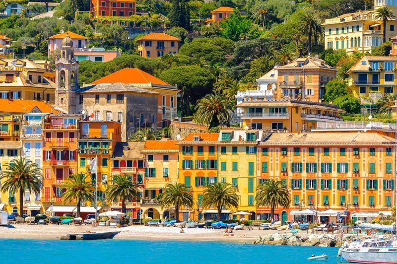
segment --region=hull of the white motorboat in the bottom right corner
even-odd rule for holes
[[[341,255],[350,263],[397,264],[397,251],[347,252],[342,250]]]

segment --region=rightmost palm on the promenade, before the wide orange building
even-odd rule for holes
[[[270,207],[270,218],[273,218],[274,208],[278,206],[288,208],[290,200],[288,188],[281,181],[271,179],[257,187],[257,196],[255,198],[257,207]]]

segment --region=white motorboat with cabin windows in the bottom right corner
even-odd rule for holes
[[[382,238],[346,242],[338,255],[351,263],[397,264],[397,242]]]

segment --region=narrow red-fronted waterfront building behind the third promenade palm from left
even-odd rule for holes
[[[113,182],[113,177],[125,174],[132,177],[140,188],[144,188],[145,155],[142,153],[144,142],[116,142],[111,158],[111,176],[109,185]],[[105,194],[106,196],[106,194]],[[131,214],[134,219],[140,219],[140,200],[126,201],[127,214]],[[122,201],[112,201],[112,210],[121,211]]]

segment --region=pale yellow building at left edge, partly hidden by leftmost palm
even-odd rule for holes
[[[4,164],[10,163],[13,159],[21,156],[21,141],[0,141],[0,166],[4,169]],[[0,183],[1,184],[1,183]],[[0,210],[8,213],[19,213],[19,193],[1,193]],[[22,201],[23,202],[23,201]]]

